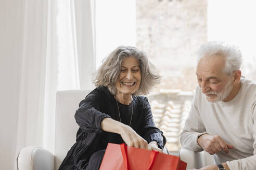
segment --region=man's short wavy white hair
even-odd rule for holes
[[[222,56],[225,59],[223,72],[227,75],[231,75],[234,71],[239,70],[242,64],[242,54],[238,47],[220,41],[209,41],[201,45],[197,53],[197,64],[205,56]]]

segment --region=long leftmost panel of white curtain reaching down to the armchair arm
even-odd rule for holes
[[[16,153],[43,145],[47,20],[47,1],[24,1]]]

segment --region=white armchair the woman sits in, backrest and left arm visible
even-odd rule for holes
[[[41,147],[25,147],[18,157],[19,170],[57,170],[75,143],[79,129],[74,114],[86,90],[59,91],[56,95],[55,155]],[[73,121],[72,121],[73,120]]]

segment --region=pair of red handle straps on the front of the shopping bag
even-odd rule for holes
[[[123,155],[123,162],[124,162],[125,168],[126,168],[126,170],[131,170],[131,168],[129,166],[129,161],[128,161],[128,158],[127,158],[127,146],[125,144],[121,144],[120,148],[121,148],[121,152],[122,152],[122,155]],[[148,165],[148,168],[147,168],[148,170],[151,169],[151,167],[153,165],[153,162],[156,159],[157,153],[158,153],[158,151],[155,151],[155,150],[151,151],[150,157],[149,157],[149,165]]]

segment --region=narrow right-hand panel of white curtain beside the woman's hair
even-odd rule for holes
[[[74,1],[76,40],[81,89],[92,89],[96,65],[95,1]]]

